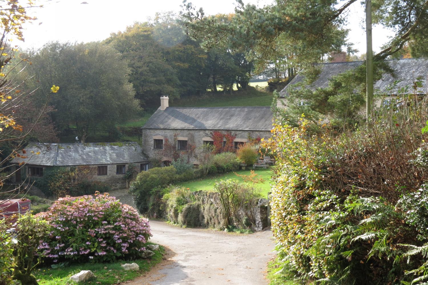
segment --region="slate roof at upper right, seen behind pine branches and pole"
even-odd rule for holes
[[[426,92],[426,77],[428,74],[428,59],[390,59],[386,61],[389,66],[395,71],[395,77],[391,76],[389,73],[383,74],[382,79],[375,82],[374,89],[375,92],[397,94],[398,88],[409,85],[413,85],[413,81],[416,77],[422,76],[425,78],[425,82],[422,83],[423,87],[419,88],[418,93]],[[357,68],[362,65],[363,61],[358,62],[331,62],[331,63],[321,63],[321,73],[318,78],[311,85],[307,86],[312,91],[315,91],[317,88],[326,88],[328,87],[329,79],[333,76],[336,76],[340,73],[348,71],[350,69]],[[414,72],[413,72],[414,71]],[[280,97],[285,97],[288,95],[288,88],[291,88],[291,85],[302,82],[304,76],[297,74],[296,77],[291,80],[289,85],[285,86],[282,91],[279,92]],[[387,91],[387,87],[391,85],[395,80],[400,80],[395,88],[392,91]]]

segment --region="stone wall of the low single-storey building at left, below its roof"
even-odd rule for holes
[[[147,163],[147,161],[135,162],[133,164],[137,167],[137,170],[140,170],[140,164],[141,163]],[[128,165],[130,165],[130,163],[109,164],[109,165],[85,165],[85,166],[90,167],[90,170],[91,170],[90,176],[94,181],[103,182],[103,183],[109,185],[112,188],[112,190],[128,188],[128,185],[126,183],[125,174],[116,174],[116,165],[126,165],[126,170],[128,170]],[[28,167],[31,167],[31,166],[43,167],[44,171],[47,168],[46,166],[42,166],[42,165],[24,165],[21,168],[21,180],[26,179],[27,174],[28,174]],[[107,175],[98,175],[98,166],[107,166]],[[67,166],[67,167],[70,167],[70,166]],[[38,177],[32,176],[32,178],[37,179]],[[15,176],[12,177],[12,181],[16,182]]]

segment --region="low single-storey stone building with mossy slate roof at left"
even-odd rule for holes
[[[130,164],[137,170],[149,168],[149,161],[136,142],[125,143],[73,143],[41,144],[31,143],[21,152],[23,157],[15,157],[12,164],[16,170],[14,182],[27,177],[43,177],[46,168],[53,166],[92,168],[92,179],[104,182],[112,189],[126,188],[125,173]]]

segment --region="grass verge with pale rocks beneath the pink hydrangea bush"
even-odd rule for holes
[[[113,285],[132,280],[149,271],[153,266],[162,261],[164,248],[160,247],[155,251],[152,259],[137,259],[131,261],[116,261],[112,263],[83,263],[53,269],[43,267],[36,270],[35,276],[39,285],[71,285],[75,284],[69,280],[70,276],[79,273],[81,270],[91,270],[95,278],[82,284]],[[140,266],[139,271],[125,271],[121,264],[135,262]],[[81,283],[79,283],[81,284]]]

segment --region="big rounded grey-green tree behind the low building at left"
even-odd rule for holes
[[[74,125],[81,142],[91,129],[112,128],[139,110],[134,88],[128,82],[127,63],[112,47],[99,42],[51,42],[32,58],[36,81],[56,82],[61,88],[52,100],[52,118],[59,128]],[[44,97],[43,89],[37,92]]]

